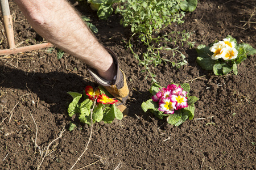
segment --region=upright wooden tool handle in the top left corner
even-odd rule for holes
[[[2,14],[3,14],[3,26],[5,28],[9,48],[13,49],[13,48],[15,48],[14,32],[13,32],[13,19],[10,14],[8,0],[1,0],[1,9],[2,9]]]

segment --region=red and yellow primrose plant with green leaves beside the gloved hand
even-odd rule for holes
[[[122,112],[115,106],[117,100],[108,97],[111,95],[103,87],[93,90],[92,86],[86,86],[84,101],[81,101],[81,103],[82,94],[77,92],[68,92],[68,94],[73,97],[73,101],[68,106],[68,115],[70,117],[73,115],[79,116],[82,123],[91,125],[93,120],[93,123],[104,121],[111,124],[115,118],[117,120],[123,118]]]

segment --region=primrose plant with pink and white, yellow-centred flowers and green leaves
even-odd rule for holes
[[[188,118],[194,117],[194,103],[199,100],[195,96],[189,96],[190,86],[184,84],[169,84],[161,87],[153,83],[150,88],[152,99],[143,102],[141,107],[144,112],[148,110],[160,119],[166,118],[168,124],[179,126]]]

